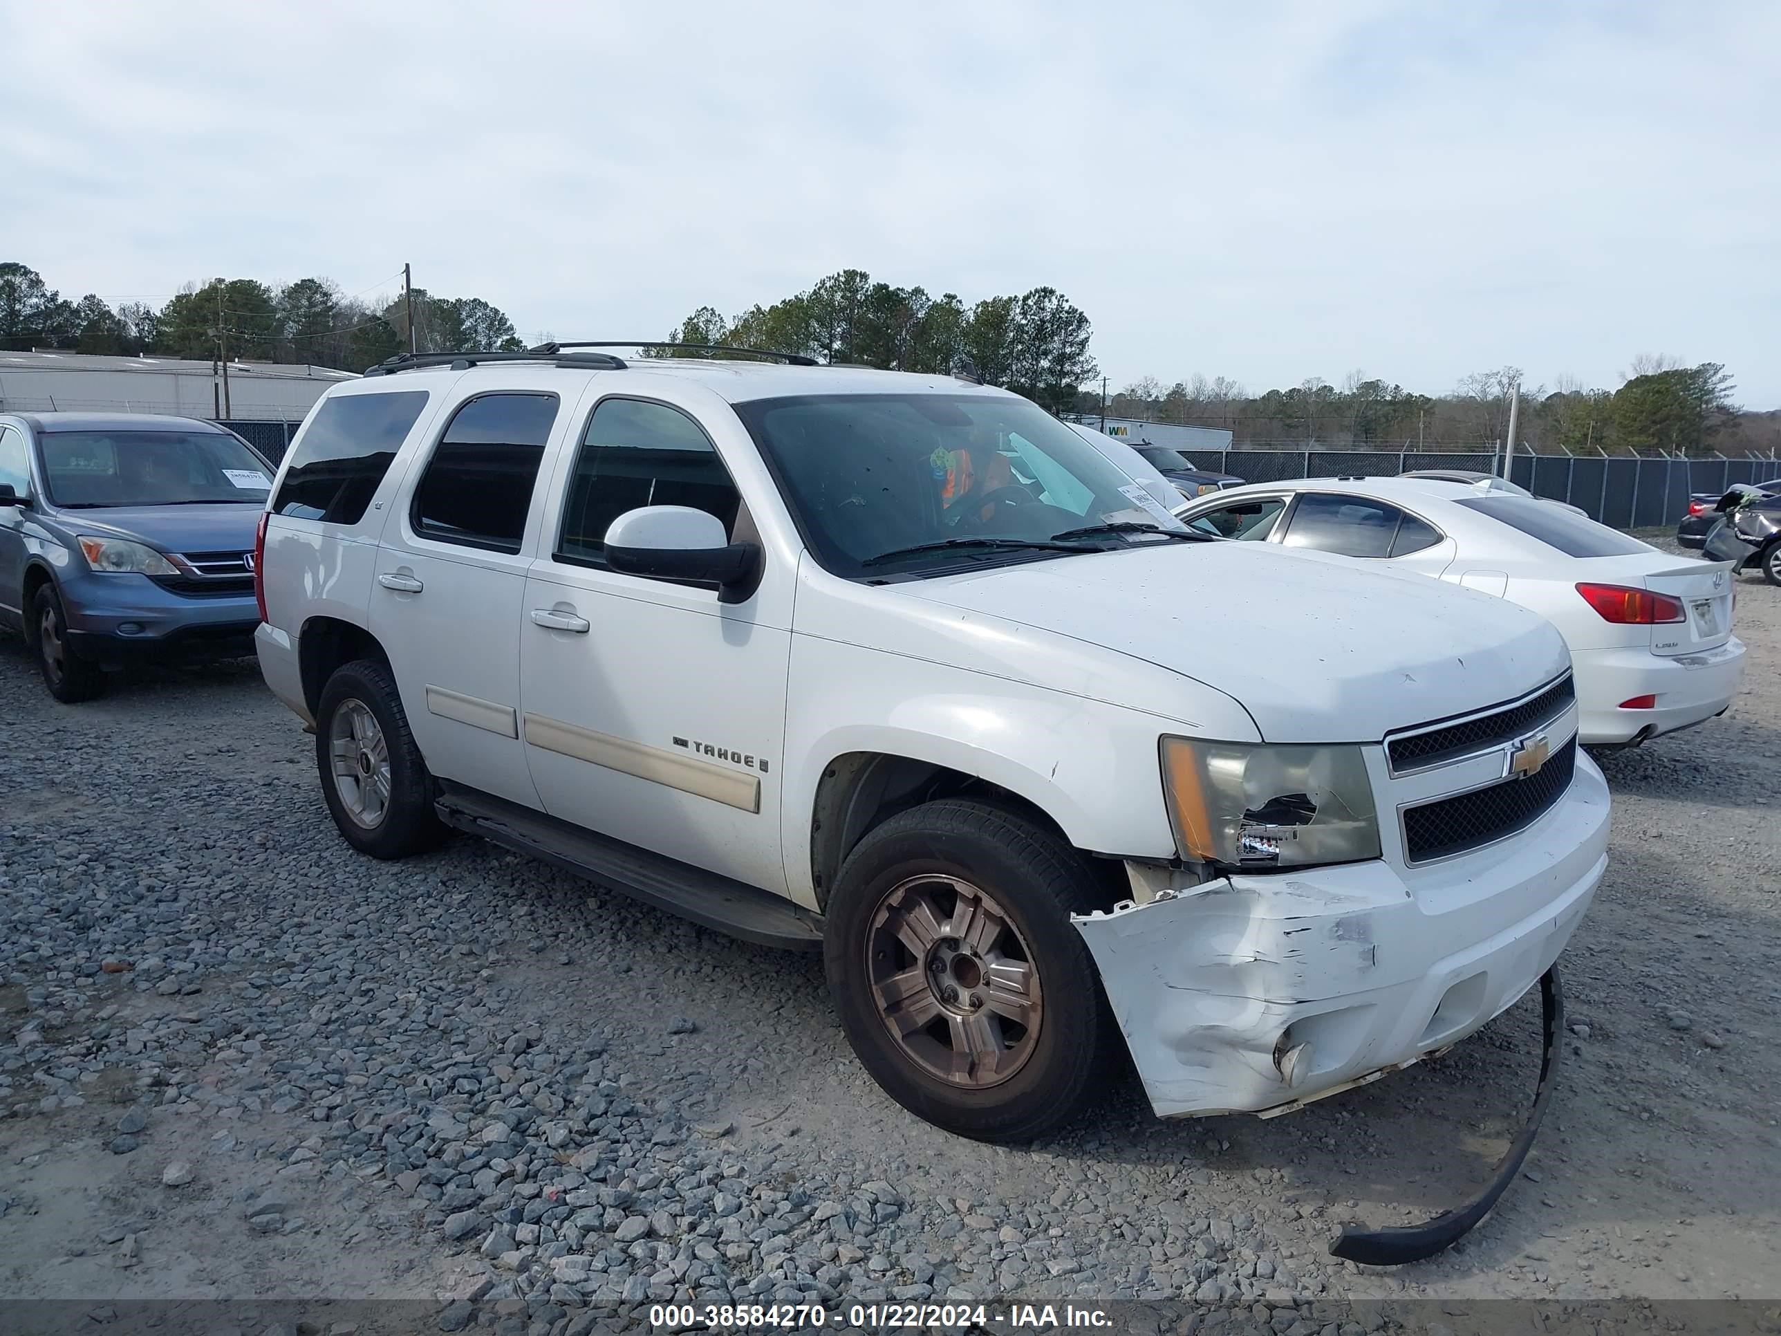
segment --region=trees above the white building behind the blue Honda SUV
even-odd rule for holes
[[[513,321],[481,297],[435,297],[415,289],[415,347],[422,353],[518,351]],[[28,265],[0,264],[0,347],[114,356],[299,362],[363,371],[408,349],[410,303],[401,296],[344,296],[329,278],[272,285],[256,278],[187,283],[162,306],[112,308],[87,294],[69,301]]]

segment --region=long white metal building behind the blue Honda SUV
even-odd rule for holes
[[[0,411],[78,410],[297,422],[329,385],[344,379],[354,379],[354,374],[280,362],[230,362],[224,399],[221,369],[210,362],[0,351]]]

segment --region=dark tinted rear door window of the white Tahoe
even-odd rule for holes
[[[557,403],[554,394],[483,394],[452,413],[415,488],[415,533],[518,552]]]

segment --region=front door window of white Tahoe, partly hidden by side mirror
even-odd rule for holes
[[[741,497],[711,438],[679,408],[602,399],[568,479],[557,559],[604,566],[607,525],[641,506],[691,506],[730,529]]]

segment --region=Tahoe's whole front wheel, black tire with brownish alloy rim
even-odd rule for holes
[[[858,843],[826,907],[828,989],[855,1055],[946,1131],[1024,1142],[1104,1088],[1115,1026],[1070,914],[1088,860],[1026,816],[923,803]]]

